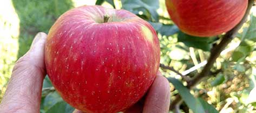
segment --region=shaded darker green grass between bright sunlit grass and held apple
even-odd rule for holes
[[[19,18],[18,58],[28,51],[37,32],[48,32],[51,25],[65,11],[73,8],[70,0],[12,1]]]

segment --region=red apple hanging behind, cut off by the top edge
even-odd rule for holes
[[[234,28],[244,16],[248,0],[166,0],[170,18],[186,34],[220,35]]]

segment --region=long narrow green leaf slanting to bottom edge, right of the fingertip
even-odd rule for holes
[[[187,87],[185,87],[178,79],[168,78],[168,80],[174,85],[175,89],[179,91],[180,96],[193,112],[204,113],[204,108],[202,104],[196,99],[190,92]]]

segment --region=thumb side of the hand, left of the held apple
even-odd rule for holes
[[[40,111],[44,66],[44,45],[47,35],[40,32],[30,50],[16,62],[8,87],[0,104],[0,113],[35,113]]]

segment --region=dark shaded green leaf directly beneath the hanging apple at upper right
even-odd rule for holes
[[[202,49],[204,51],[210,51],[212,43],[216,40],[216,37],[195,37],[179,32],[178,42],[183,42],[187,46]]]

